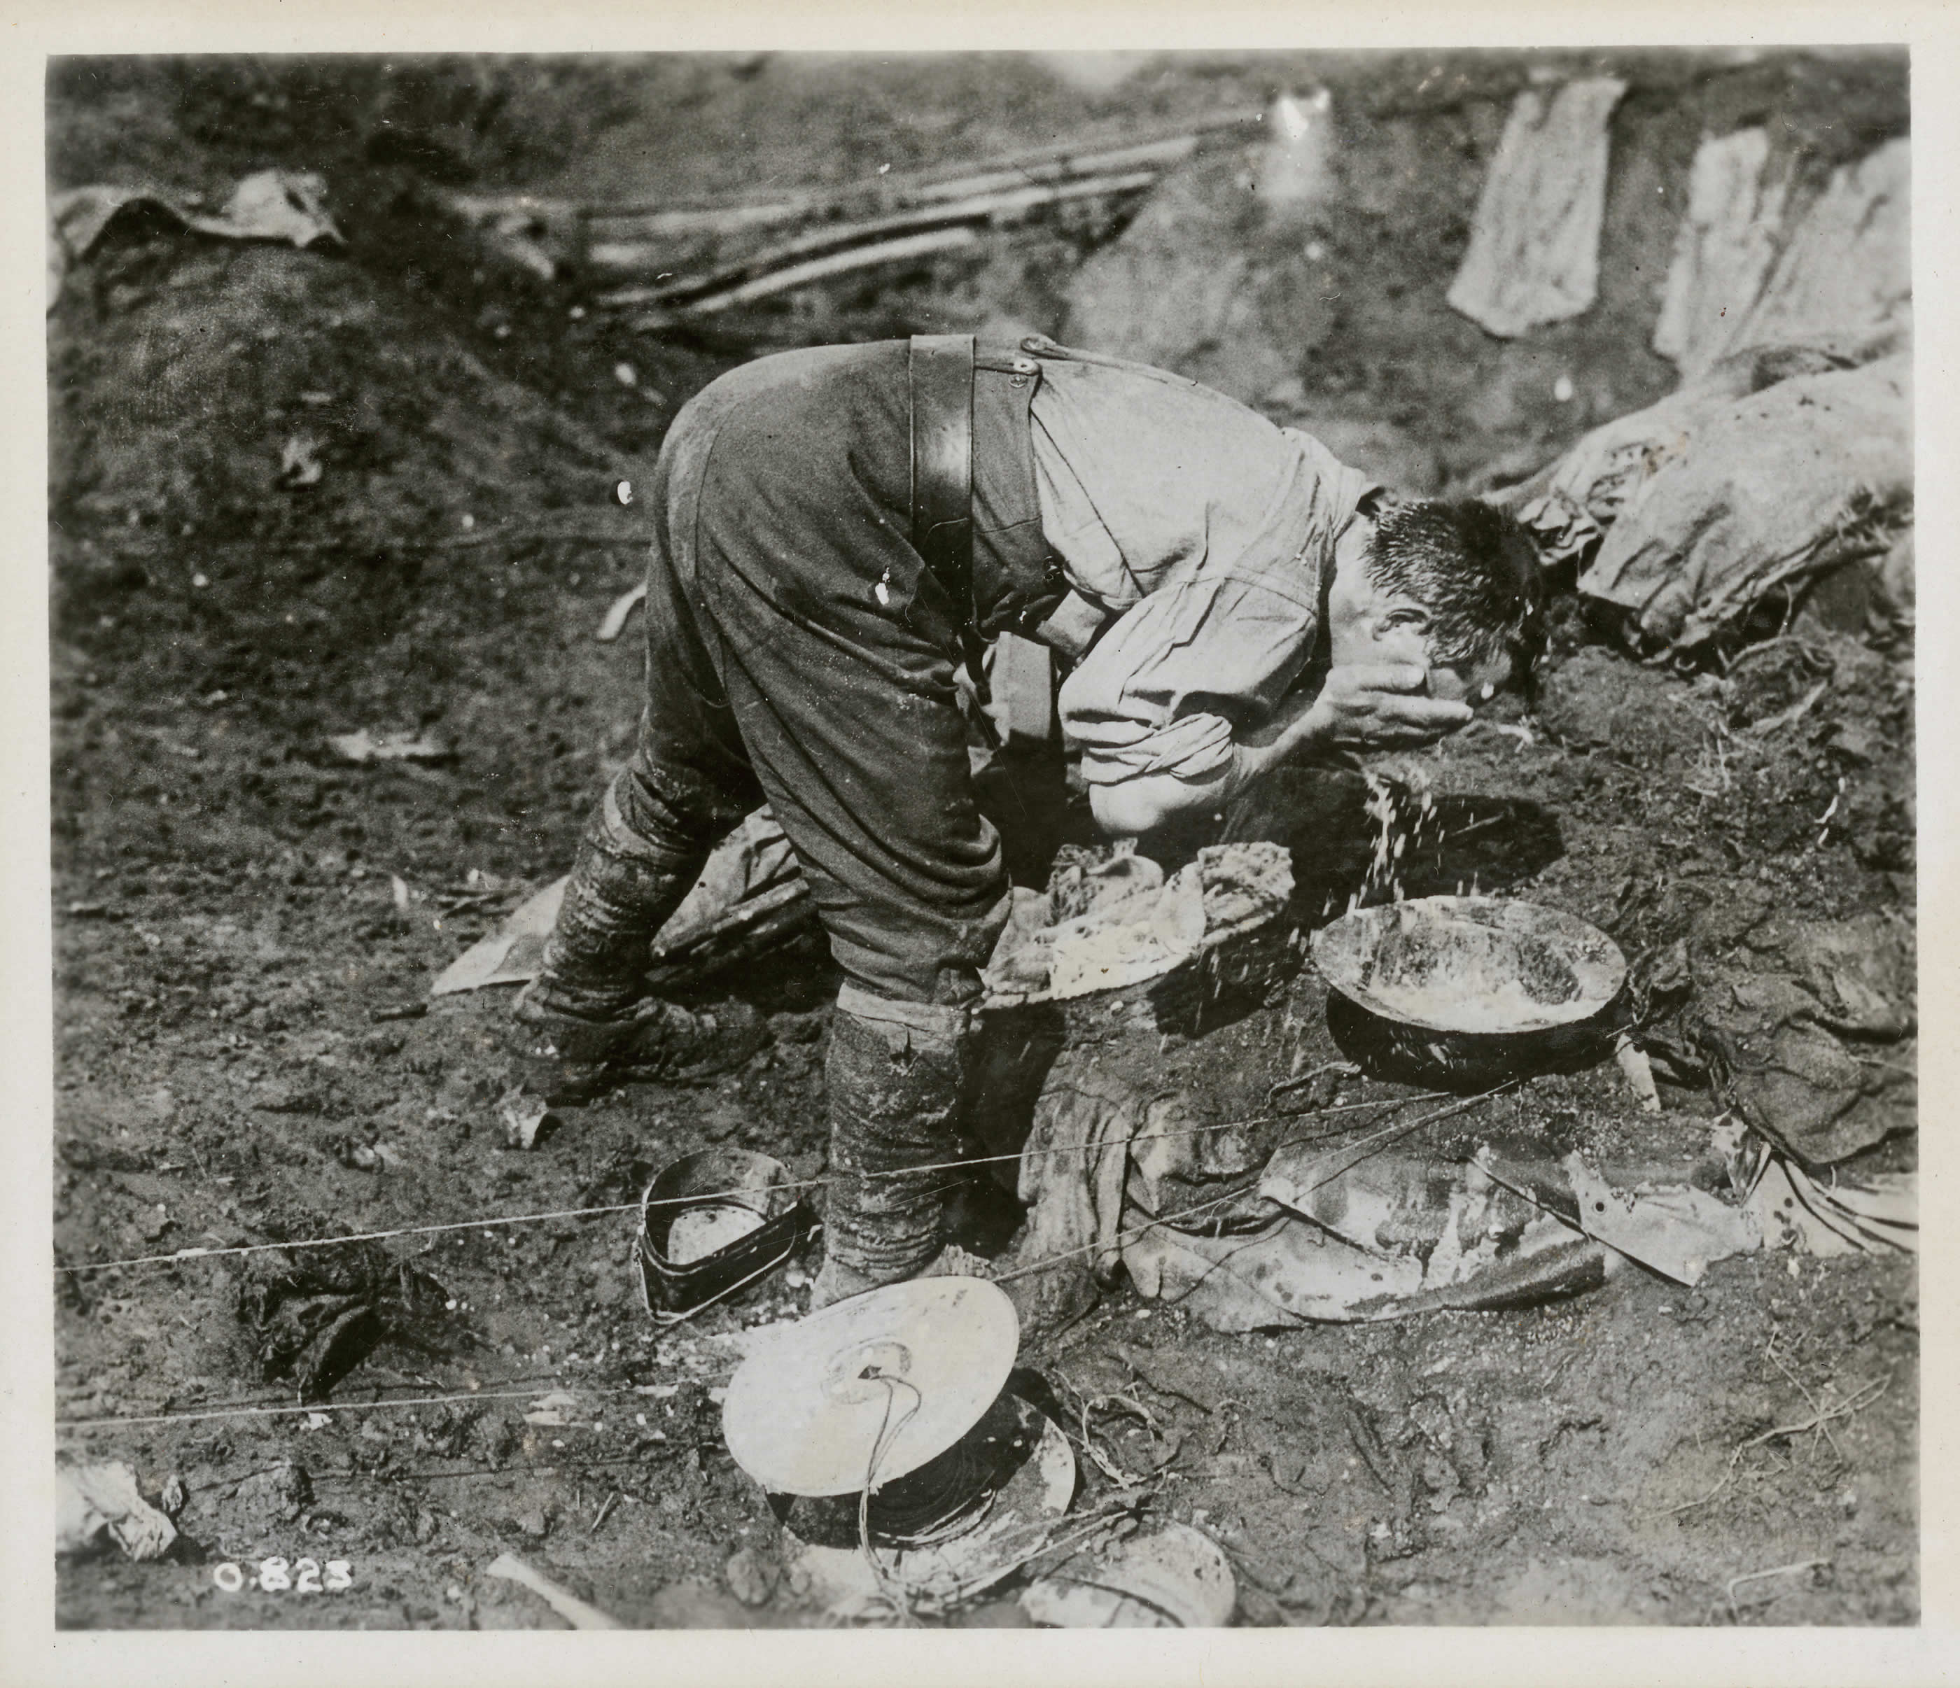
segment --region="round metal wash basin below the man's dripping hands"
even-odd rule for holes
[[[1599,1061],[1627,959],[1576,916],[1492,896],[1364,908],[1313,935],[1327,1025],[1386,1078],[1480,1086]]]

